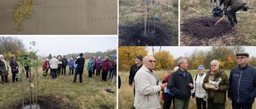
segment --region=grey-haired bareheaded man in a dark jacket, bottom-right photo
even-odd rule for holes
[[[178,60],[178,70],[173,73],[168,81],[168,89],[174,94],[174,105],[179,109],[188,109],[193,80],[190,72],[187,72],[188,63],[185,58]]]

